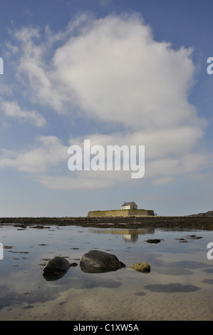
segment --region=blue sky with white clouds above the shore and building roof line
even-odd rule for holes
[[[130,201],[157,215],[212,210],[212,11],[210,0],[2,0],[0,217]],[[85,140],[144,145],[144,176],[70,170],[68,148],[83,158]]]

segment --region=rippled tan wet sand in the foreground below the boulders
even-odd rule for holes
[[[119,289],[70,289],[53,301],[33,308],[16,307],[1,317],[4,321],[212,321],[212,309],[207,308],[212,298],[209,291],[206,296],[203,292],[175,292],[167,294],[165,304],[165,294],[157,292],[137,296],[134,289],[128,289],[124,297]]]

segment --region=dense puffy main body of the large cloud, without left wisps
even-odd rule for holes
[[[137,16],[93,21],[53,58],[59,82],[92,117],[155,130],[199,123],[187,102],[191,49],[158,43]]]

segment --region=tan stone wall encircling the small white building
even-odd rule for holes
[[[94,210],[88,212],[88,217],[142,217],[155,215],[153,210]]]

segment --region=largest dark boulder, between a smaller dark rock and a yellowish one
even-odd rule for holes
[[[80,259],[80,269],[83,272],[100,273],[116,271],[125,267],[123,262],[118,260],[115,254],[101,252],[98,250],[90,250]]]

